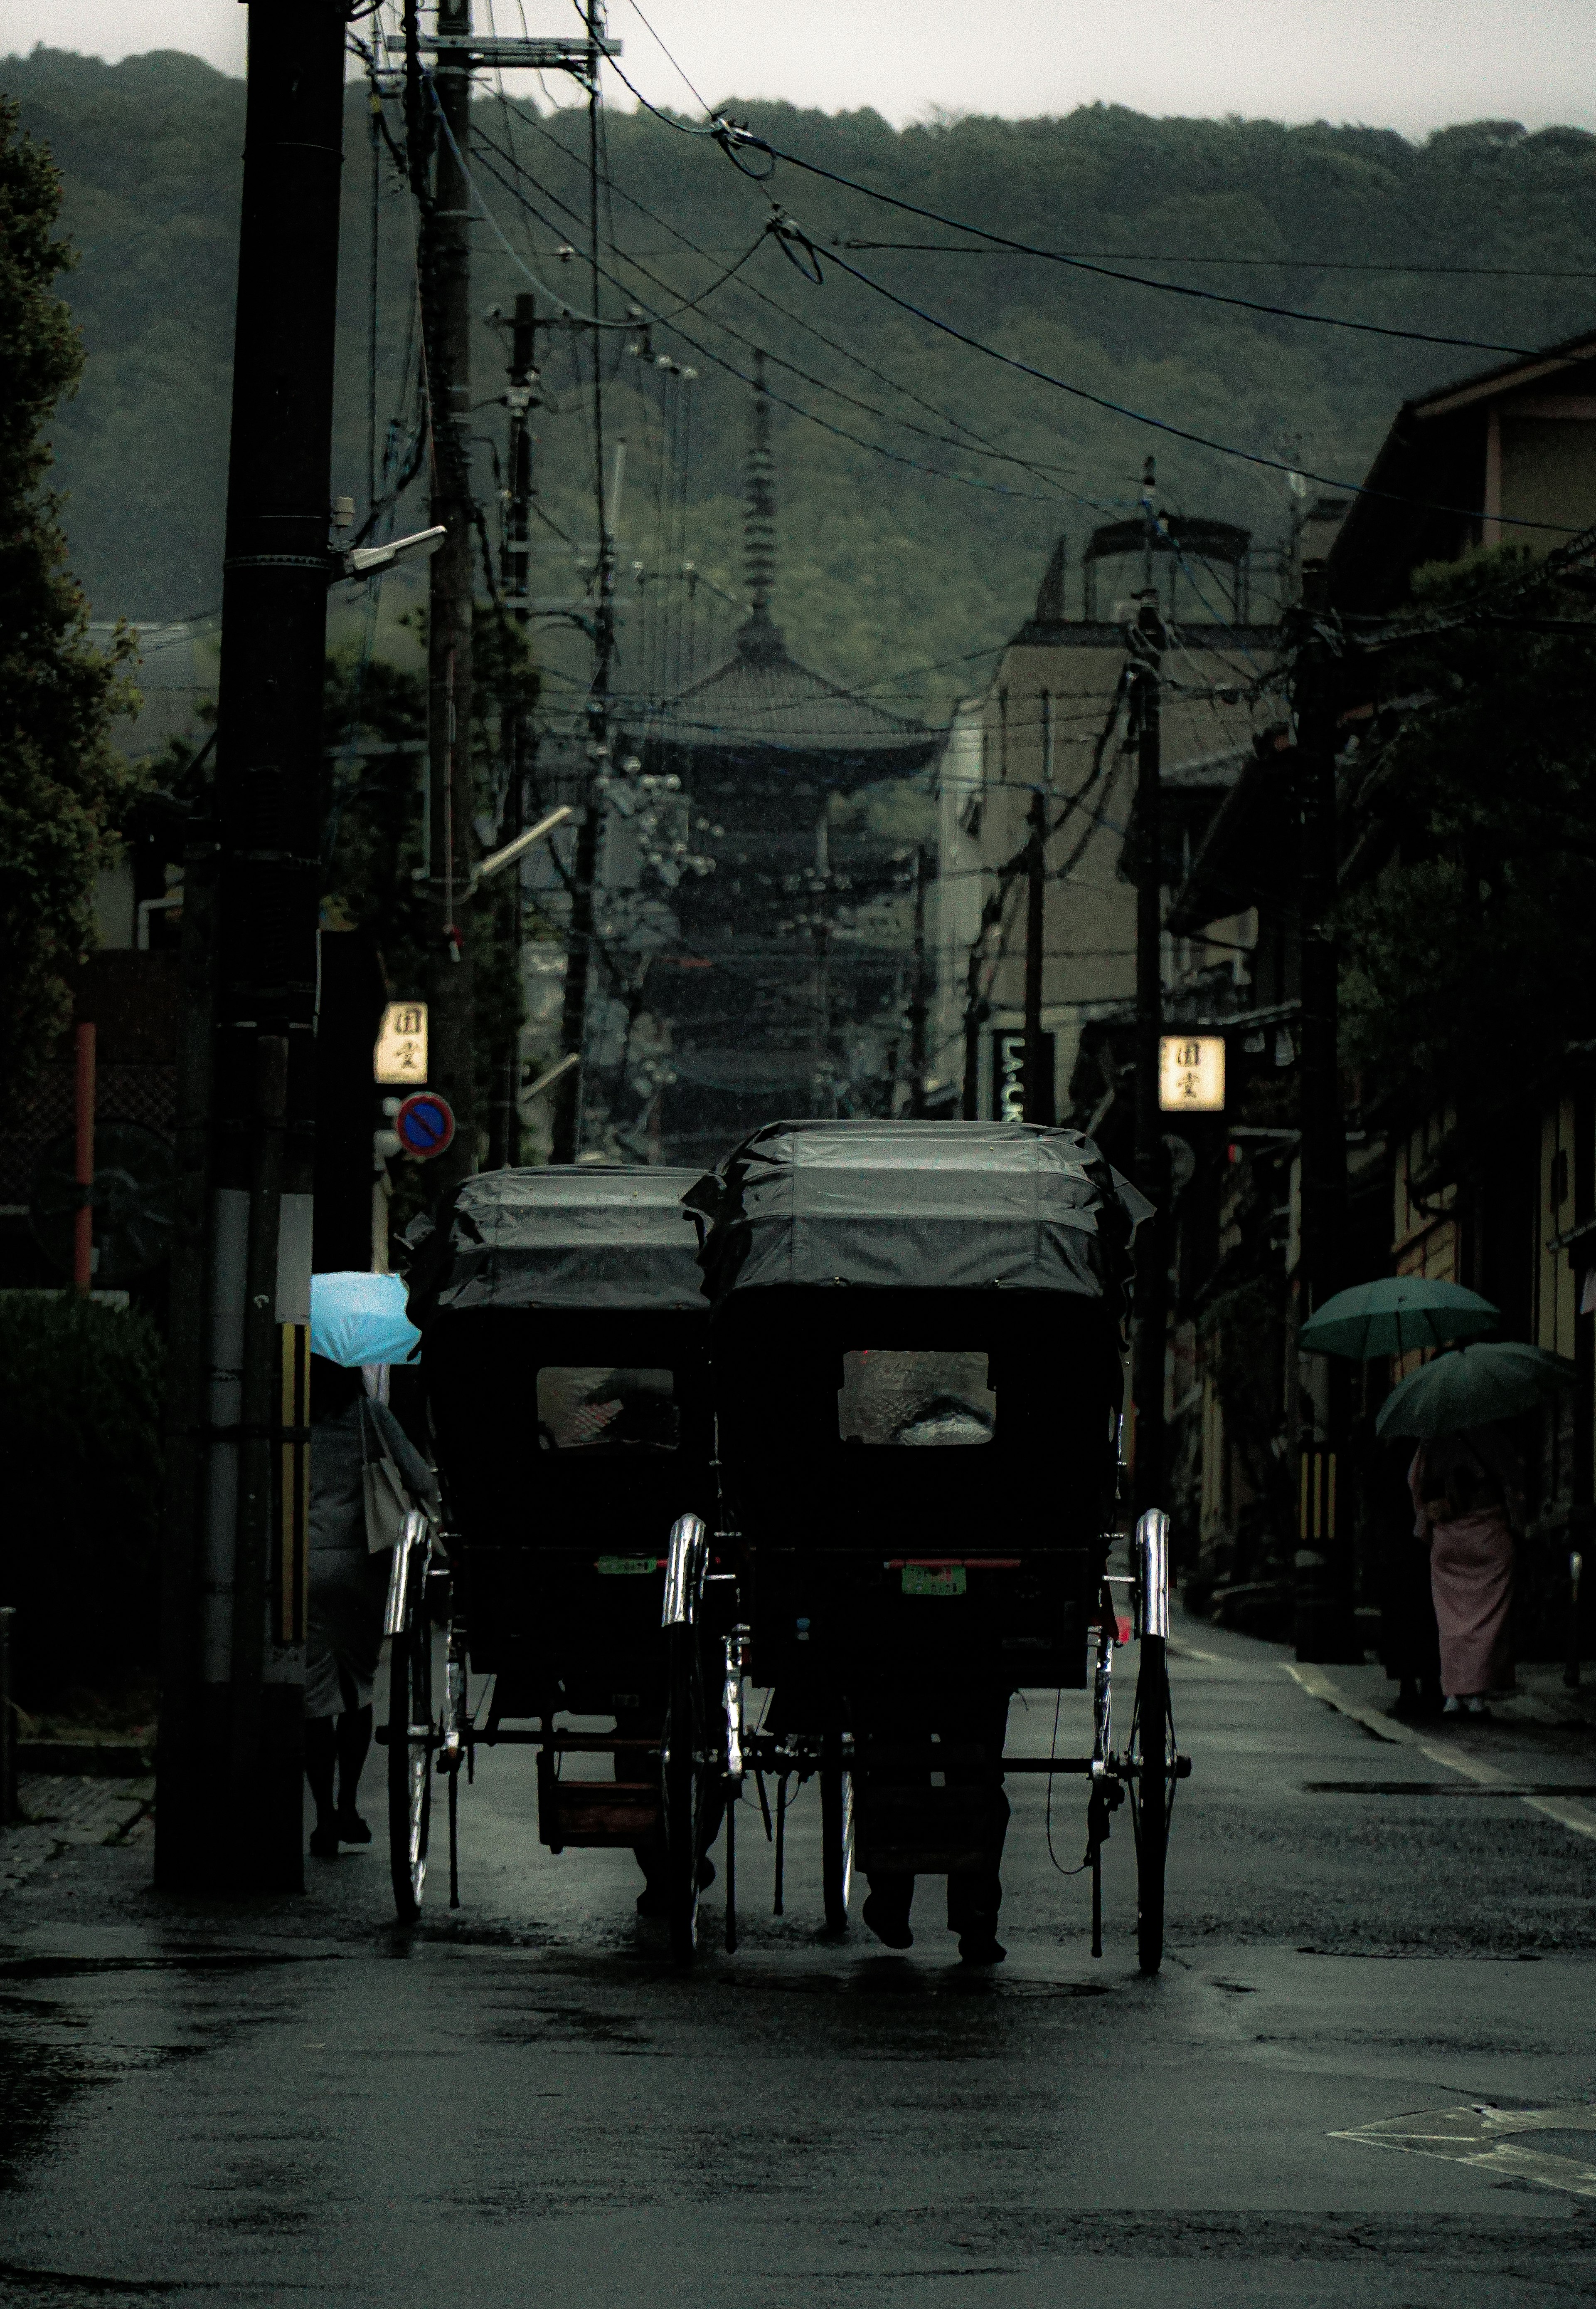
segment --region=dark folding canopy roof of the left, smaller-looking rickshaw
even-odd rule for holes
[[[464,1180],[411,1228],[411,1321],[473,1307],[708,1314],[692,1171],[558,1164]]]

